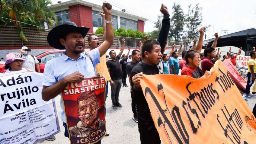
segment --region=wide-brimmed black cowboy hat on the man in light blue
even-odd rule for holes
[[[59,41],[63,35],[66,35],[70,32],[79,32],[84,38],[89,30],[90,27],[78,27],[74,22],[66,21],[63,24],[60,24],[50,30],[47,35],[47,41],[50,46],[59,50],[65,50],[65,46],[63,46]]]

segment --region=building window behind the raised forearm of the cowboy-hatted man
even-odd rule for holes
[[[113,21],[113,28],[117,30],[117,16],[111,15],[111,19]],[[92,10],[92,24],[93,27],[103,27],[103,18],[99,11]]]

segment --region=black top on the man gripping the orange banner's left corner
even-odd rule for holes
[[[158,65],[148,65],[148,64],[139,62],[136,66],[134,66],[134,68],[130,73],[131,82],[132,82],[132,77],[140,72],[146,75],[162,74],[162,71],[159,71],[159,69],[160,67]],[[132,83],[132,86],[133,86],[133,83]],[[134,94],[134,97],[136,98],[136,101],[139,103],[138,116],[143,120],[152,121],[149,105],[146,101],[146,98],[144,97],[142,89],[136,88],[135,86],[133,86],[133,94]]]

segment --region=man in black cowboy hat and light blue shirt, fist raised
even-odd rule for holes
[[[88,27],[77,27],[73,22],[65,22],[54,27],[47,36],[50,46],[66,50],[62,56],[51,59],[45,65],[43,73],[42,99],[49,101],[55,98],[69,82],[81,82],[84,77],[95,76],[95,65],[100,62],[114,41],[113,22],[111,21],[112,6],[103,2],[102,9],[106,18],[106,40],[96,49],[86,55],[82,53],[84,37]],[[63,111],[62,100],[61,117],[65,127],[65,136],[69,136],[66,127],[66,116]]]

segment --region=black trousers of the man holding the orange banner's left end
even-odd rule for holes
[[[160,136],[153,121],[142,120],[138,117],[139,138],[141,144],[160,144]]]

